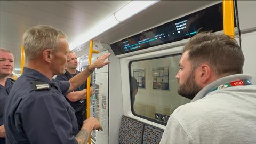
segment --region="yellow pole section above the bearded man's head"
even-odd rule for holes
[[[233,0],[223,0],[223,30],[224,34],[235,37]]]

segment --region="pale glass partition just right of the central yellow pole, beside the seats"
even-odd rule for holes
[[[92,55],[92,63],[100,55],[107,53],[108,50]],[[84,55],[79,58],[79,68],[83,70],[88,66],[88,57]],[[94,130],[91,133],[91,143],[109,143],[109,107],[108,107],[108,65],[97,68],[91,74],[91,83],[94,92],[90,98],[90,116],[97,118],[103,127],[103,131]]]

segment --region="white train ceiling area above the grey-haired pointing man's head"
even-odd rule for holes
[[[73,41],[130,1],[0,1],[0,47],[13,52],[20,68],[23,33],[32,26],[50,25]]]

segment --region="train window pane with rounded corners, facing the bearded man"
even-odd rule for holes
[[[165,125],[177,107],[190,102],[177,93],[175,75],[179,71],[180,58],[181,54],[175,54],[129,63],[134,115]]]

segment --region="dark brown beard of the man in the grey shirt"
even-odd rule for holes
[[[179,95],[191,100],[196,96],[196,94],[200,90],[202,89],[196,84],[195,74],[193,74],[193,76],[188,77],[185,83],[183,83],[182,85],[179,85],[178,93]]]

